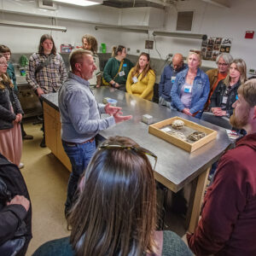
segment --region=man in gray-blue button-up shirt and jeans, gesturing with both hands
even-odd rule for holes
[[[97,104],[88,82],[96,70],[90,51],[74,50],[69,62],[72,72],[68,73],[68,79],[59,90],[62,145],[72,164],[67,185],[66,215],[73,205],[79,177],[96,151],[96,134],[131,119],[131,115],[121,115],[121,108]],[[101,113],[110,116],[101,119]]]

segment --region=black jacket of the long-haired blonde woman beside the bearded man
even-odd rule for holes
[[[239,80],[236,84],[234,84],[232,86],[231,90],[229,90],[228,99],[226,102],[226,109],[225,109],[228,117],[230,117],[230,115],[233,114],[234,108],[232,107],[232,105],[234,102],[236,102],[237,90],[240,85],[241,85],[241,82]],[[224,96],[226,89],[227,89],[227,86],[224,84],[224,80],[220,80],[218,82],[216,89],[212,93],[210,109],[221,107],[221,103],[222,103],[223,96]]]

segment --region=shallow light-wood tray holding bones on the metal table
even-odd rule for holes
[[[173,136],[172,134],[169,134],[165,131],[160,130],[163,127],[172,125],[172,122],[177,119],[183,120],[183,122],[185,124],[184,125],[185,128],[188,128],[191,131],[202,131],[202,132],[206,133],[207,135],[205,137],[202,137],[197,142],[189,143],[189,142],[183,141],[182,139],[180,139],[178,137]],[[173,130],[173,131],[182,131],[182,130]],[[203,145],[211,142],[212,140],[214,140],[217,137],[217,133],[218,133],[217,131],[209,129],[205,126],[198,125],[194,122],[191,122],[186,119],[182,119],[177,116],[173,117],[172,119],[166,119],[166,120],[160,121],[158,123],[155,123],[154,125],[149,125],[148,132],[153,134],[154,136],[164,139],[168,143],[172,143],[172,144],[176,145],[177,147],[183,148],[184,150],[189,151],[189,152],[193,152],[193,151],[195,151],[195,149],[201,148]]]

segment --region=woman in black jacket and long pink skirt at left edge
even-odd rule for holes
[[[22,137],[20,121],[22,108],[14,84],[6,75],[8,63],[0,54],[0,153],[15,165],[20,165]]]

